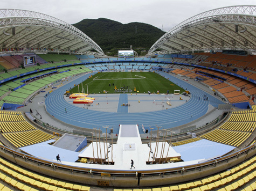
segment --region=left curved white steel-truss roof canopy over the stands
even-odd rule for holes
[[[14,29],[13,29],[14,28]],[[88,52],[102,49],[78,28],[47,14],[0,9],[0,46],[2,48],[53,48]]]

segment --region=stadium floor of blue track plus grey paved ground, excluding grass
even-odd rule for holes
[[[111,105],[114,104],[114,102],[115,104],[118,103],[112,99],[119,99],[119,97],[116,95],[113,95],[113,97],[111,97],[111,95],[106,95],[106,104],[106,99],[104,98],[105,94],[99,94],[95,95],[95,97],[98,96],[98,101],[95,100],[95,104],[86,109],[83,108],[83,106],[74,106],[70,103],[70,99],[63,97],[64,92],[70,87],[70,84],[78,84],[86,78],[86,76],[83,75],[74,77],[72,80],[69,80],[69,82],[64,82],[59,86],[58,84],[56,85],[58,88],[55,89],[45,100],[47,112],[44,109],[44,105],[37,104],[44,98],[46,92],[40,93],[36,96],[33,103],[25,107],[25,111],[27,110],[28,112],[29,108],[32,108],[32,110],[37,109],[40,115],[42,115],[42,120],[44,122],[49,123],[54,127],[60,126],[60,129],[71,132],[75,126],[86,128],[97,127],[101,129],[102,126],[110,125],[114,127],[114,133],[117,133],[119,124],[143,124],[146,127],[157,124],[164,128],[177,127],[186,123],[190,123],[191,125],[192,121],[196,121],[199,117],[204,116],[207,112],[214,109],[214,107],[217,107],[218,104],[223,104],[222,101],[213,96],[213,92],[210,89],[207,89],[205,86],[200,85],[193,80],[185,81],[182,78],[179,79],[175,76],[165,74],[164,72],[160,72],[160,74],[166,78],[170,78],[172,82],[176,82],[178,85],[187,88],[191,92],[190,99],[188,97],[183,97],[183,100],[173,100],[174,98],[169,97],[171,99],[172,106],[170,106],[171,108],[166,109],[168,107],[166,104],[164,107],[162,106],[162,101],[164,99],[164,101],[167,101],[167,97],[164,95],[137,94],[137,97],[139,98],[136,98],[134,94],[129,94],[129,113],[117,113],[117,107]],[[203,100],[204,94],[207,94],[209,101]],[[199,100],[198,97],[201,99]],[[177,98],[179,98],[179,96]],[[138,100],[140,100],[140,104]],[[188,100],[188,102],[185,102],[186,100]],[[135,104],[135,102],[137,102],[139,107],[134,107],[133,109],[133,104]],[[97,105],[99,103],[100,105]],[[158,103],[158,105],[156,105],[156,103]],[[65,107],[67,108],[67,114],[65,113]],[[154,109],[156,109],[156,111],[154,111]],[[191,115],[191,113],[193,113],[193,115]],[[216,111],[215,113],[222,113],[222,111]],[[212,117],[215,117],[215,115]],[[51,120],[49,120],[49,118],[51,118]],[[46,121],[44,119],[46,119]],[[211,121],[211,117],[209,121]],[[205,121],[202,121],[202,123],[205,124]],[[142,129],[140,129],[140,133],[143,133]]]

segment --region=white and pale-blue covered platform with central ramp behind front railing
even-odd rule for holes
[[[165,144],[163,142],[158,143],[158,152],[155,153],[156,158],[162,158],[161,161],[165,161],[166,158],[181,158],[184,161],[176,162],[176,163],[164,163],[164,164],[153,164],[147,165],[149,160],[153,161],[153,153],[155,152],[155,148],[157,144],[154,142],[151,144],[151,152],[150,152],[150,144],[142,144],[141,137],[139,134],[139,129],[137,125],[120,125],[119,137],[117,139],[116,144],[111,145],[111,138],[108,138],[108,143],[106,144],[105,140],[105,152],[104,152],[104,143],[98,142],[98,151],[97,144],[95,142],[91,143],[81,152],[69,151],[66,149],[61,149],[53,145],[49,145],[49,143],[53,142],[47,141],[39,144],[34,144],[30,146],[25,146],[20,148],[20,150],[29,153],[32,156],[39,157],[41,159],[46,159],[57,163],[56,156],[59,154],[61,158],[61,163],[71,166],[78,167],[87,167],[91,169],[102,169],[102,170],[116,170],[116,171],[137,171],[137,170],[164,170],[166,168],[171,167],[182,167],[187,165],[193,165],[202,162],[203,160],[210,160],[212,158],[225,155],[232,151],[235,147],[230,145],[224,145],[212,141],[208,141],[206,139],[202,139],[197,142],[169,147],[168,142]],[[72,143],[70,143],[72,144]],[[112,147],[113,147],[113,155],[112,155]],[[100,156],[100,148],[101,148],[101,156]],[[168,151],[169,149],[169,151]],[[93,156],[94,152],[94,156]],[[108,160],[106,159],[105,165],[98,164],[89,164],[89,163],[75,163],[79,158],[87,158],[87,160],[94,160],[95,158],[99,159],[98,161],[105,160],[105,153],[107,158],[108,152]],[[162,155],[161,155],[162,152]],[[167,153],[168,152],[168,153]],[[150,153],[150,156],[149,156]],[[108,161],[113,162],[114,165],[108,165]],[[100,160],[101,159],[101,160]],[[134,166],[130,170],[130,160],[134,160]],[[168,160],[167,159],[167,160]],[[109,163],[110,164],[110,163]]]

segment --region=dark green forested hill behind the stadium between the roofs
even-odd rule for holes
[[[84,19],[73,24],[108,52],[115,48],[149,49],[165,33],[159,28],[144,23],[122,24],[105,18]]]

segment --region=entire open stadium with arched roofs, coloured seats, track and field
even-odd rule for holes
[[[143,57],[44,13],[0,18],[1,190],[255,190],[255,5],[188,18]]]

